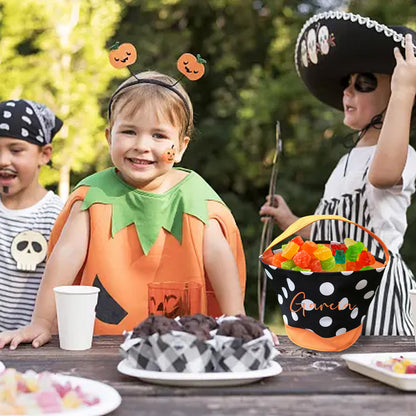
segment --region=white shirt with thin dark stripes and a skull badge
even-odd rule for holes
[[[62,200],[52,191],[20,210],[7,209],[0,200],[0,331],[30,323],[45,270],[45,260],[37,263],[37,259],[45,255],[62,207]]]

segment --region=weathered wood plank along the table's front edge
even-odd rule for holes
[[[123,398],[112,416],[407,416],[415,414],[415,396],[297,395]]]

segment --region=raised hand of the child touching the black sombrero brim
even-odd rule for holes
[[[412,36],[406,35],[405,56],[399,48],[394,48],[396,67],[391,79],[391,90],[400,94],[416,94],[416,57]]]

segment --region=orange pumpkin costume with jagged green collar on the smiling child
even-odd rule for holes
[[[203,236],[209,219],[218,221],[231,247],[244,297],[244,251],[234,218],[198,174],[185,171],[188,175],[168,192],[153,194],[126,184],[110,168],[81,181],[66,202],[52,230],[49,252],[72,205],[83,201],[82,209],[89,211],[90,238],[74,284],[101,289],[95,334],[121,334],[145,319],[147,285],[153,281],[200,283],[201,312],[221,315],[204,272]]]

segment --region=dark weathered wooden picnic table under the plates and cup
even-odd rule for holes
[[[105,382],[122,396],[113,416],[402,416],[416,414],[416,394],[349,370],[344,353],[416,351],[414,337],[362,336],[348,350],[318,352],[279,336],[283,368],[278,376],[235,387],[167,387],[146,384],[117,371],[122,337],[99,336],[93,348],[73,352],[59,348],[57,337],[34,350],[0,350],[0,360],[19,371],[48,370]]]

